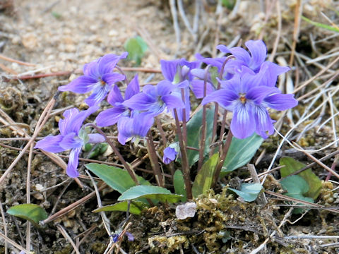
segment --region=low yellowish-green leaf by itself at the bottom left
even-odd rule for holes
[[[15,205],[9,208],[7,213],[22,219],[27,219],[35,226],[39,226],[39,222],[48,217],[44,208],[35,204]]]

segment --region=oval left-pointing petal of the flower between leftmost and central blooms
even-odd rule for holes
[[[97,122],[97,126],[105,127],[105,126],[112,126],[118,122],[121,116],[128,116],[129,111],[123,105],[114,107],[112,109],[106,109],[101,111],[95,121]]]

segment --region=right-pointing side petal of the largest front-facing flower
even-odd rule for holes
[[[297,106],[298,101],[294,95],[270,95],[263,100],[266,107],[276,110],[286,110]]]

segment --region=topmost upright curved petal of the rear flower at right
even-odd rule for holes
[[[249,40],[245,42],[246,47],[251,52],[251,61],[246,62],[253,71],[258,71],[261,63],[266,59],[267,49],[262,40]]]

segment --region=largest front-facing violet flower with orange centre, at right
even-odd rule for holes
[[[212,92],[202,104],[218,102],[220,106],[233,111],[231,131],[236,138],[247,138],[254,132],[268,138],[274,132],[273,120],[266,107],[285,110],[297,106],[293,95],[282,95],[275,87],[275,78],[259,72],[256,75],[242,71],[231,80],[220,81],[222,89]]]

